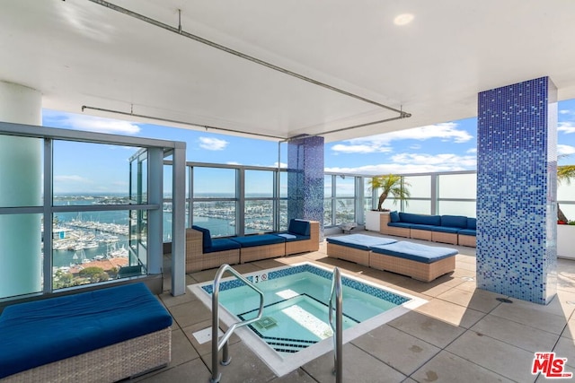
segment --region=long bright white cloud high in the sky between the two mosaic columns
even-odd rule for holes
[[[472,135],[464,130],[457,129],[457,126],[455,122],[446,122],[443,124],[399,130],[382,135],[354,138],[344,141],[343,144],[333,145],[332,151],[344,153],[391,152],[391,143],[400,140],[425,141],[432,138],[439,138],[442,141],[453,141],[456,144],[463,144],[473,139]]]

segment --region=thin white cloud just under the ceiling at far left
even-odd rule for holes
[[[56,124],[57,127],[65,127],[68,129],[119,135],[137,135],[141,130],[137,124],[119,119],[100,118],[51,110],[44,110],[43,113],[49,123]]]

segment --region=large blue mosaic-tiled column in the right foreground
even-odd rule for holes
[[[479,93],[477,286],[547,304],[557,287],[557,89]]]

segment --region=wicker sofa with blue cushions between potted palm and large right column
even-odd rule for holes
[[[412,239],[475,247],[477,221],[464,215],[381,214],[379,232]]]

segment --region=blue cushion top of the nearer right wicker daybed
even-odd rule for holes
[[[399,241],[389,245],[376,245],[371,251],[386,256],[401,257],[412,261],[431,264],[440,259],[452,257],[457,254],[455,248],[438,248],[435,246],[420,245],[407,241]]]

